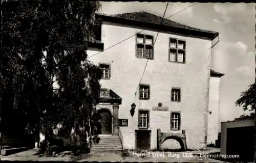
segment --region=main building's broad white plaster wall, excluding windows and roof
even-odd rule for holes
[[[127,37],[135,35],[142,29],[133,26],[119,26],[103,22],[102,42],[108,48]],[[143,31],[142,34],[153,35],[157,32]],[[169,37],[186,41],[186,63],[168,61]],[[141,84],[150,85],[150,100],[139,100],[135,91],[142,76],[146,59],[135,57],[136,38],[132,37],[104,52],[90,58],[98,51],[88,50],[89,60],[98,65],[111,64],[111,78],[101,80],[102,88],[110,88],[122,98],[119,107],[119,119],[129,119],[128,127],[120,127],[124,148],[135,148],[135,129],[138,129],[138,110],[150,110],[151,148],[157,147],[157,128],[163,132],[170,130],[170,111],[181,112],[181,130],[185,129],[187,146],[199,149],[205,146],[207,130],[207,111],[210,77],[211,41],[159,33],[154,48],[154,60],[149,60]],[[172,87],[181,88],[181,102],[170,101]],[[135,114],[130,115],[131,104],[135,102]],[[162,102],[168,107],[167,112],[152,111],[153,106]],[[180,131],[181,132],[181,131]]]

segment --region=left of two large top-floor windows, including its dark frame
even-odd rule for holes
[[[137,34],[136,57],[153,59],[153,36]]]

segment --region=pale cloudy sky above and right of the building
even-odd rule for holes
[[[167,2],[101,2],[100,13],[145,11],[163,16]],[[165,17],[194,3],[168,3]],[[255,80],[255,4],[197,3],[168,19],[220,33],[212,48],[211,69],[224,73],[220,84],[220,121],[233,120],[244,112],[234,103]],[[115,44],[115,43],[113,43]],[[115,47],[113,47],[115,48]]]

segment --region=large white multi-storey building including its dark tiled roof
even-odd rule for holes
[[[119,135],[123,149],[159,149],[167,139],[185,149],[214,142],[223,74],[210,70],[210,62],[219,33],[146,12],[97,18],[99,41],[87,53],[103,71],[99,134]]]

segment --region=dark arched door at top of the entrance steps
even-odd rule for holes
[[[112,134],[112,115],[111,112],[105,108],[98,111],[98,134]]]

